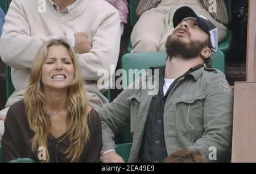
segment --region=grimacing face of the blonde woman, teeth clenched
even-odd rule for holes
[[[66,90],[74,78],[74,66],[69,51],[63,45],[52,45],[42,67],[44,90]]]

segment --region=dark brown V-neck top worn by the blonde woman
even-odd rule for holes
[[[94,109],[88,114],[88,126],[90,135],[79,162],[100,162],[102,148],[101,121],[98,112]],[[3,162],[9,162],[17,158],[30,158],[34,162],[41,162],[38,155],[32,152],[30,141],[33,135],[25,113],[24,101],[20,100],[10,107],[6,116],[5,133],[2,138]],[[47,146],[51,162],[70,162],[70,160],[65,159],[64,155],[69,147],[66,133],[59,138],[49,134]]]

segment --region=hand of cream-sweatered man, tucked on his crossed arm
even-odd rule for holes
[[[85,32],[77,32],[75,36],[75,52],[79,54],[88,53],[92,49],[92,42]]]

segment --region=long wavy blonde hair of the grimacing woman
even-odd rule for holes
[[[88,99],[85,94],[80,67],[76,60],[75,53],[71,46],[64,40],[49,40],[38,51],[32,63],[30,80],[27,91],[24,94],[24,103],[30,128],[34,131],[31,140],[32,150],[38,154],[38,147],[46,147],[46,160],[50,162],[47,149],[47,139],[50,133],[51,121],[47,114],[46,103],[44,102],[44,88],[42,83],[42,66],[48,54],[48,48],[52,45],[63,45],[68,49],[71,56],[75,74],[71,86],[68,87],[68,114],[67,137],[69,148],[65,151],[66,158],[71,162],[77,162],[82,150],[89,138],[87,105]]]

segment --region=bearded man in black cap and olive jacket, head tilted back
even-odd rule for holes
[[[100,109],[103,162],[123,162],[113,139],[127,124],[133,135],[129,162],[163,162],[180,148],[198,150],[208,162],[230,159],[233,92],[225,75],[208,66],[217,28],[190,7],[178,9],[173,23],[166,66],[152,67],[153,74],[131,84],[151,80],[155,91],[129,87]]]

